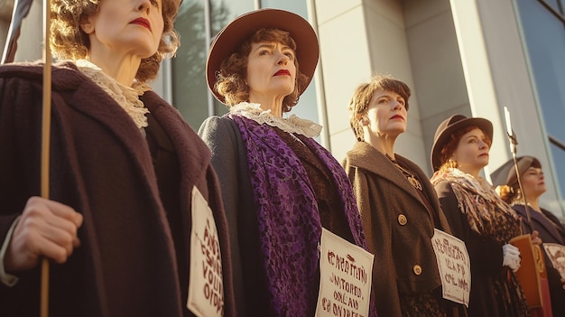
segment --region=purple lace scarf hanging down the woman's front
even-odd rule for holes
[[[321,222],[306,170],[271,126],[237,115],[229,117],[239,127],[247,150],[273,310],[280,316],[313,315],[318,297]],[[346,173],[315,140],[308,138],[305,145],[333,175],[338,192],[342,193],[343,209],[355,242],[367,249],[357,202]],[[376,315],[374,309],[370,311],[371,316]]]

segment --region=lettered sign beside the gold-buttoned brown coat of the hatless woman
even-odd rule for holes
[[[443,298],[468,307],[471,291],[471,262],[465,242],[439,229],[431,238],[440,269]]]

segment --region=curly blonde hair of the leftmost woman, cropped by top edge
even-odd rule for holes
[[[88,34],[80,28],[88,16],[97,13],[100,1],[109,0],[51,0],[51,50],[60,60],[79,60],[90,49]],[[179,35],[174,30],[174,19],[181,0],[162,0],[164,22],[157,52],[141,61],[135,79],[147,82],[157,77],[161,61],[173,56],[179,47]]]

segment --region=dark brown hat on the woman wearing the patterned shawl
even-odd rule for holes
[[[445,119],[433,136],[433,145],[431,146],[431,168],[436,172],[441,167],[440,157],[441,150],[449,142],[449,137],[456,131],[464,129],[468,126],[477,126],[481,129],[490,140],[493,140],[493,124],[482,117],[465,117],[463,115],[454,115]]]

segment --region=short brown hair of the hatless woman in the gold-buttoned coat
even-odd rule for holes
[[[404,107],[408,111],[408,99],[412,93],[408,85],[390,76],[374,76],[369,82],[363,83],[355,89],[347,107],[349,111],[349,125],[357,137],[357,141],[365,141],[361,118],[365,117],[369,111],[369,104],[377,90],[392,91],[402,96],[405,102]]]

